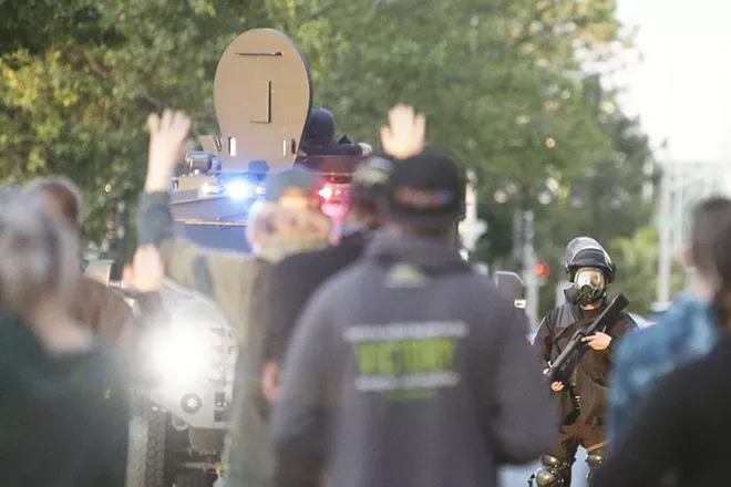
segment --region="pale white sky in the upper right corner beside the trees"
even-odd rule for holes
[[[731,162],[731,0],[618,0],[638,51],[616,83],[658,147],[682,162]],[[639,61],[639,53],[642,60]]]

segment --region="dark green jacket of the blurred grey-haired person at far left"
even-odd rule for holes
[[[130,404],[114,351],[47,352],[0,311],[3,487],[123,487]]]

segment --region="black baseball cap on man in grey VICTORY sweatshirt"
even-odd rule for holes
[[[415,228],[447,228],[460,219],[463,186],[456,163],[434,148],[394,160],[383,203],[384,218]]]

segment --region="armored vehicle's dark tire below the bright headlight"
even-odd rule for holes
[[[168,415],[137,391],[133,394],[126,487],[169,487],[165,465]]]

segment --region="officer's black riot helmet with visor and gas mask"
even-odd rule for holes
[[[566,246],[564,268],[574,284],[564,291],[566,300],[581,305],[604,299],[616,271],[607,251],[590,237],[577,237]]]

